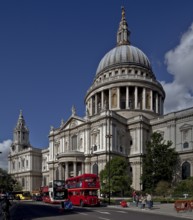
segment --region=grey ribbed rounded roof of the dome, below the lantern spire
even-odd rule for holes
[[[96,75],[107,68],[115,67],[123,64],[134,64],[144,68],[151,69],[151,64],[147,56],[137,47],[129,44],[122,44],[110,50],[100,61]]]

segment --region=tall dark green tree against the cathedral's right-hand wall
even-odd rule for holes
[[[177,175],[180,159],[172,142],[163,140],[160,133],[153,133],[146,145],[146,154],[143,156],[143,174],[141,180],[143,189],[154,191],[160,181],[172,184]]]

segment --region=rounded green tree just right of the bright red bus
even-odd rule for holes
[[[104,170],[100,172],[100,182],[101,193],[108,194],[110,189],[111,193],[119,192],[124,196],[125,192],[130,190],[131,185],[126,159],[117,156],[110,160],[110,163],[107,162]]]

